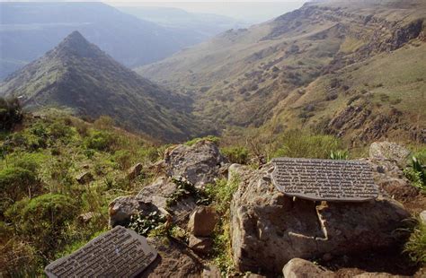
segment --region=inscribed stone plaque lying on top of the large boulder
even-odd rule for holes
[[[279,158],[272,160],[272,182],[280,192],[314,201],[360,202],[378,189],[367,162]]]

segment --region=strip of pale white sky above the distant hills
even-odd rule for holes
[[[271,20],[283,13],[288,13],[301,7],[305,0],[274,1],[274,2],[107,2],[113,6],[151,6],[174,7],[191,13],[216,13],[235,18],[246,23],[260,23]]]

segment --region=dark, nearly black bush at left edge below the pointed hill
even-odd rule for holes
[[[18,99],[0,98],[0,130],[11,130],[22,122],[22,118],[22,107]]]

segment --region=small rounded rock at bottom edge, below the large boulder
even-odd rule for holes
[[[333,272],[301,258],[291,259],[282,269],[284,278],[333,277]]]

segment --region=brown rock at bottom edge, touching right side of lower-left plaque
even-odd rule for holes
[[[186,245],[170,240],[148,238],[148,243],[158,251],[154,263],[138,277],[190,277],[199,278],[204,265],[199,256]]]

